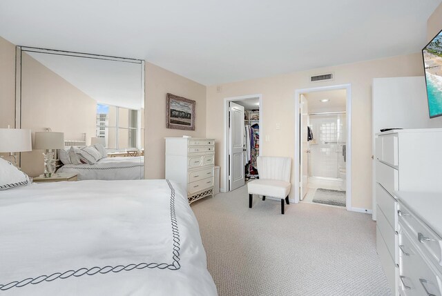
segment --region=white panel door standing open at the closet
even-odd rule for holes
[[[244,107],[230,102],[229,107],[230,190],[244,186]]]

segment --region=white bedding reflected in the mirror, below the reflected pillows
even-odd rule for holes
[[[144,179],[144,157],[106,157],[97,164],[66,164],[57,172],[76,172],[78,180]]]

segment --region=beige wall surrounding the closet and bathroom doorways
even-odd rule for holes
[[[334,81],[309,83],[309,76],[333,71]],[[341,66],[295,72],[275,77],[240,81],[207,88],[206,137],[215,138],[215,164],[224,175],[223,101],[226,97],[262,94],[262,155],[289,156],[294,159],[295,90],[352,83],[352,207],[372,208],[372,79],[374,77],[401,77],[423,75],[421,55],[405,55],[374,61],[363,61]],[[425,98],[422,98],[425,103]],[[280,124],[280,130],[276,130]],[[292,166],[294,168],[294,166]],[[292,184],[298,174],[291,174]],[[221,188],[224,179],[221,178]],[[291,198],[294,189],[292,188]]]

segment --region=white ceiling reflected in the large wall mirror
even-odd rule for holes
[[[140,63],[26,53],[98,103],[134,110],[144,108]]]

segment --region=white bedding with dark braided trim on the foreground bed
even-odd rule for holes
[[[2,191],[0,241],[0,295],[216,295],[198,222],[166,180]]]

